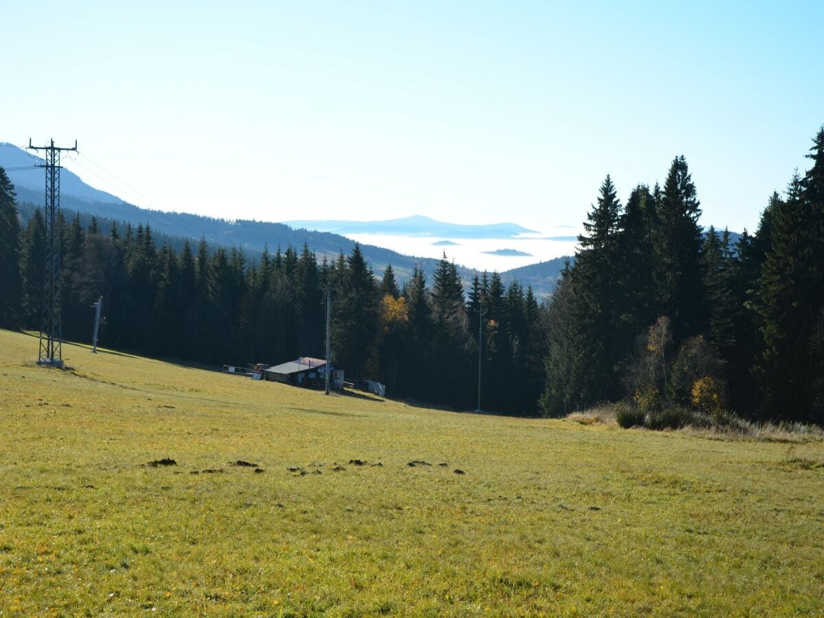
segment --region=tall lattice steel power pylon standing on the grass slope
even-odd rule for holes
[[[30,150],[45,151],[45,161],[40,167],[46,170],[46,268],[45,302],[43,322],[40,326],[40,355],[38,365],[63,367],[63,323],[60,318],[60,152],[77,152],[77,140],[73,148],[54,145],[32,146]]]

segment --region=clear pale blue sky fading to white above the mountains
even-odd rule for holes
[[[822,24],[820,0],[2,2],[0,140],[77,139],[119,180],[67,166],[153,208],[526,227],[684,154],[702,222],[752,229],[824,123]]]

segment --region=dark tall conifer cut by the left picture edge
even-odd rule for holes
[[[21,319],[23,281],[20,272],[20,221],[14,185],[0,167],[0,327],[13,328]]]

